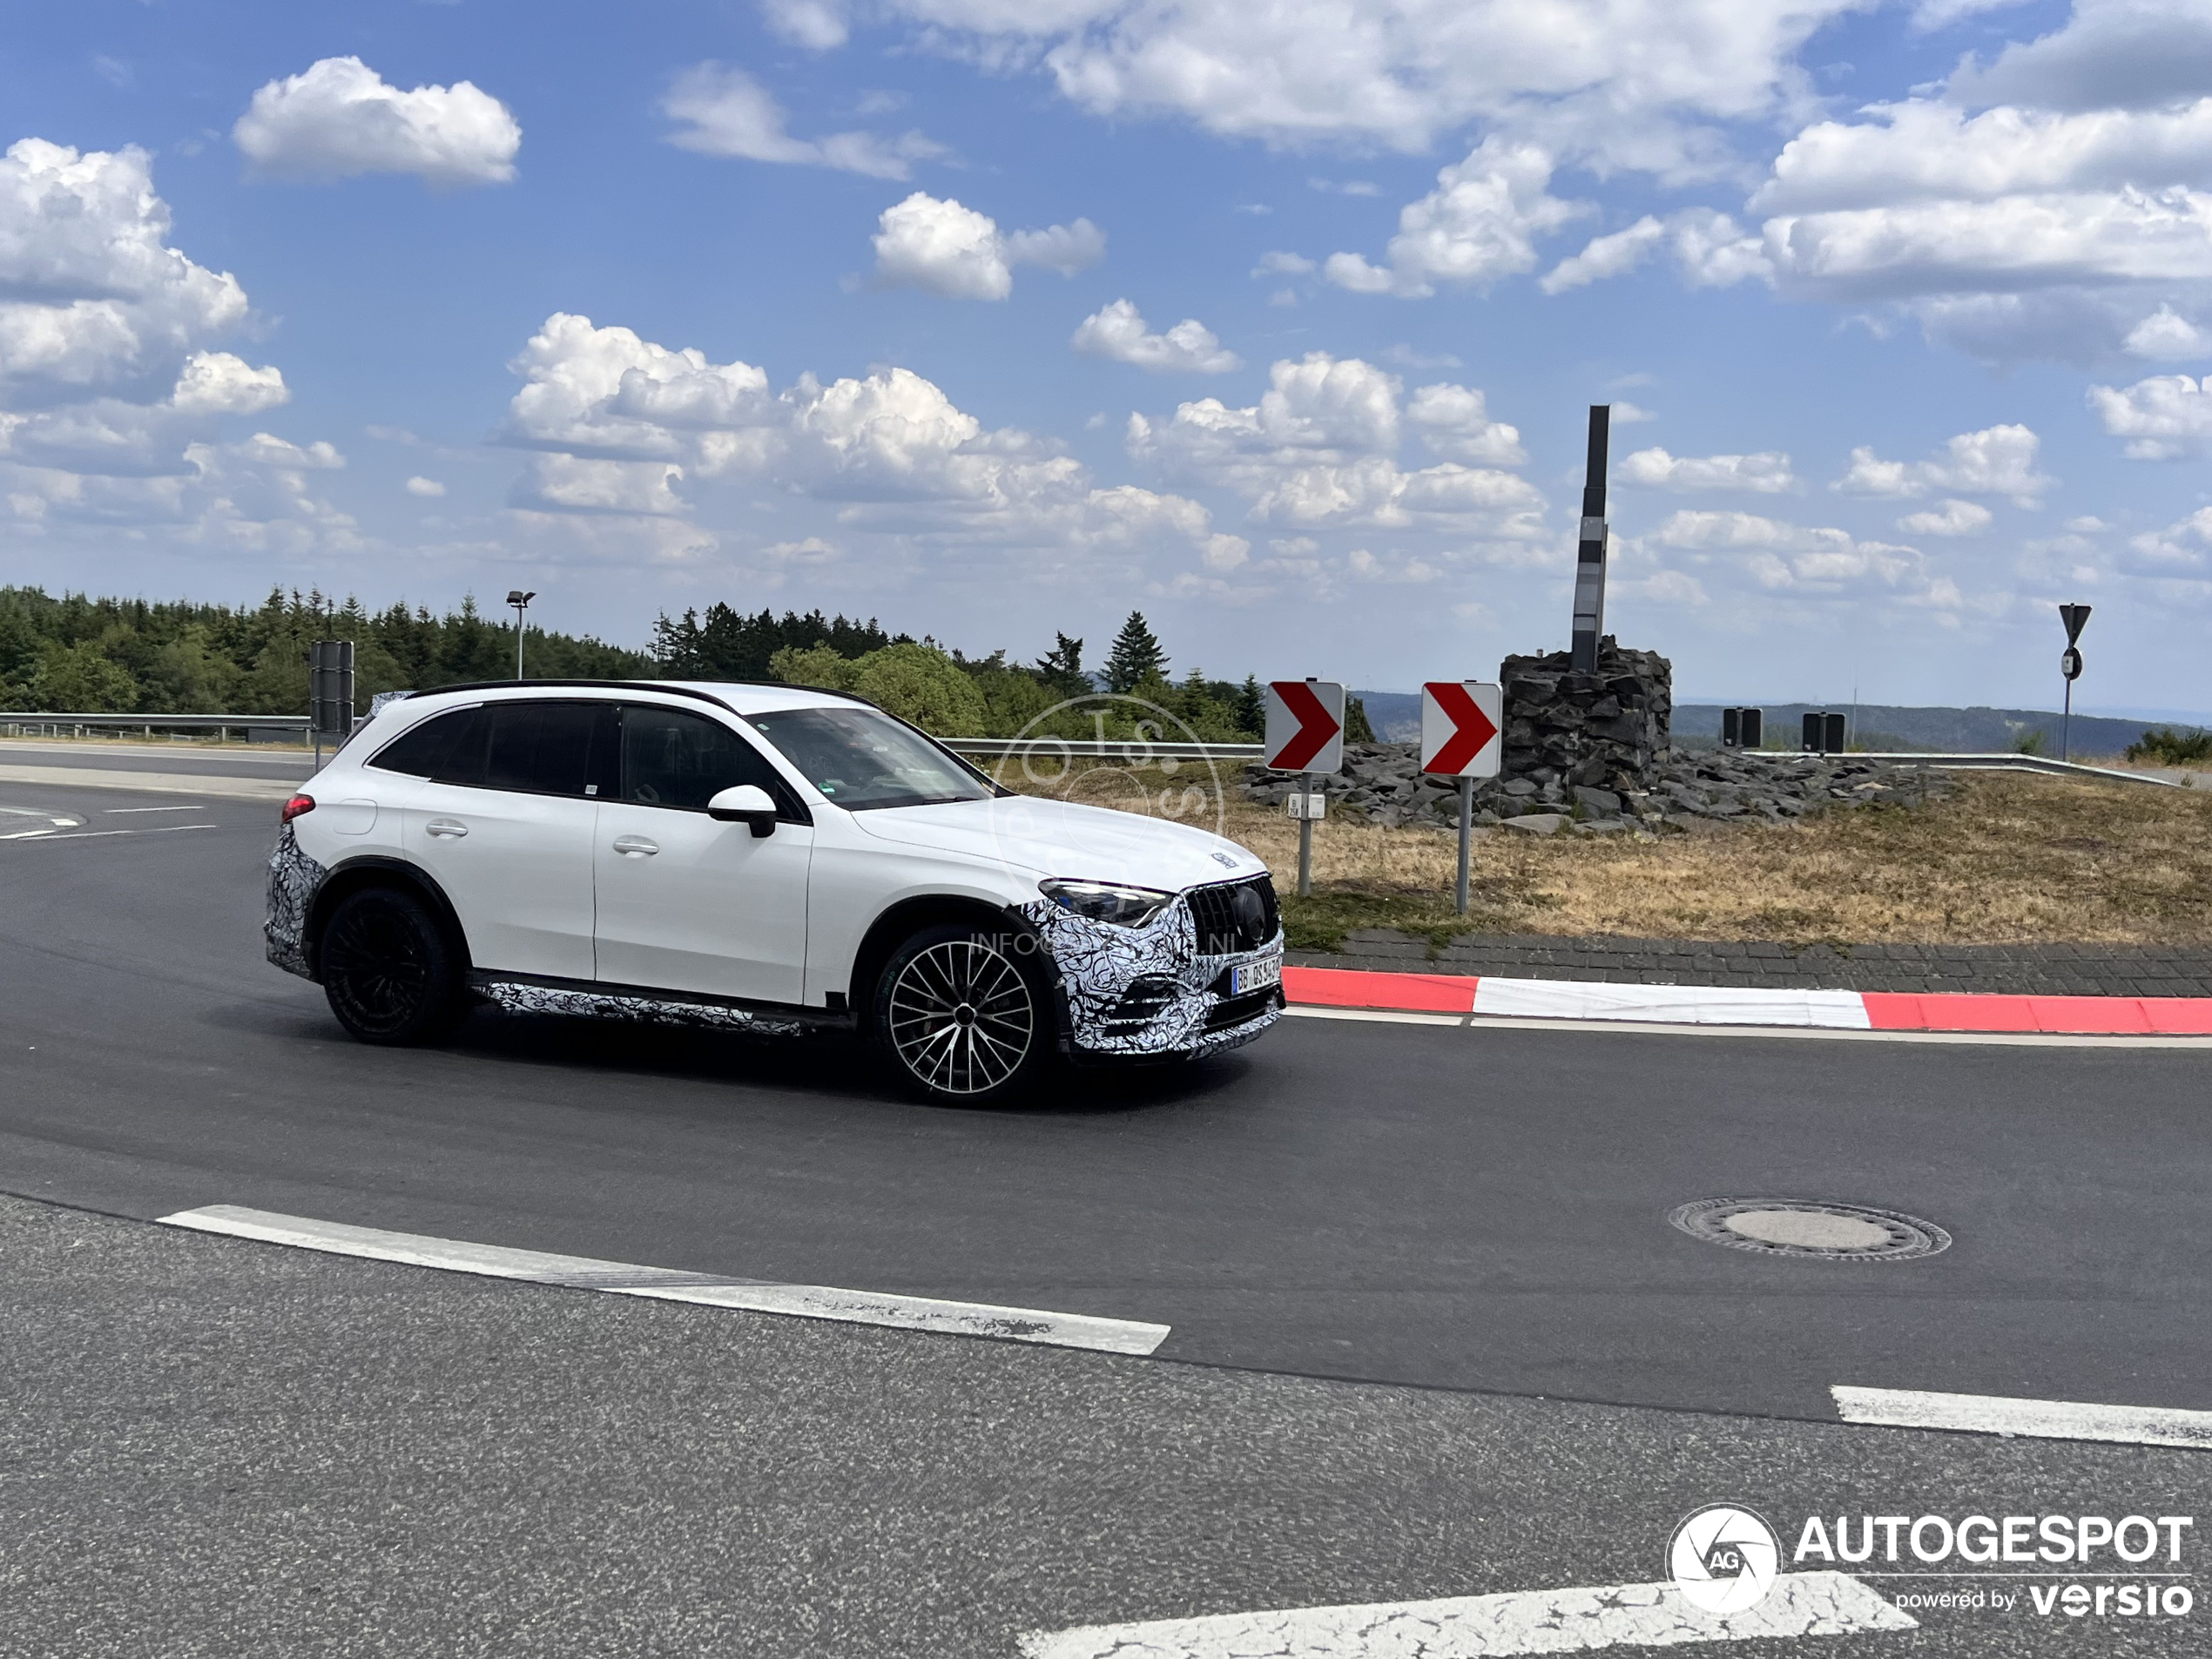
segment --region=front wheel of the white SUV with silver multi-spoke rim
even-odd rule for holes
[[[905,1088],[945,1106],[1026,1095],[1057,1053],[1033,945],[989,927],[925,927],[876,975],[869,1035]]]

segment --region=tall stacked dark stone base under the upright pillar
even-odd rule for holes
[[[1657,650],[1597,644],[1597,672],[1577,675],[1564,650],[1506,657],[1504,774],[1531,783],[1648,790],[1668,750],[1674,670]]]

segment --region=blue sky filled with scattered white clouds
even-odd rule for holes
[[[2212,708],[2212,0],[15,7],[0,584]]]

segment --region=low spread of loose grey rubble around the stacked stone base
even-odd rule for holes
[[[1759,754],[1743,750],[1670,752],[1657,757],[1641,790],[1551,779],[1482,779],[1475,783],[1475,823],[1524,834],[1621,834],[1701,830],[1721,823],[1792,823],[1832,807],[1891,801],[1916,807],[1951,790],[1951,779],[1880,754]],[[1321,787],[1329,812],[1378,825],[1455,830],[1458,785],[1420,770],[1413,743],[1345,748],[1345,768]],[[1243,794],[1279,805],[1298,781],[1261,765],[1245,770]]]

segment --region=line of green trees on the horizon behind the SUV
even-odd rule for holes
[[[254,608],[0,588],[0,710],[301,714],[314,639],[354,641],[361,708],[387,690],[509,679],[515,670],[515,626],[484,617],[473,597],[434,615],[283,588]],[[703,615],[661,615],[646,650],[533,626],[524,668],[531,679],[781,679],[852,690],[947,737],[1137,737],[1157,726],[1152,734],[1172,741],[1179,726],[1210,743],[1259,741],[1259,677],[1214,679],[1201,668],[1172,677],[1141,613],[1128,615],[1095,670],[1084,650],[1082,637],[1055,633],[1053,648],[1033,661],[1011,661],[1004,650],[967,657],[927,635],[889,633],[874,617],[825,617],[818,608],[748,615],[712,604]],[[1347,717],[1349,737],[1371,737],[1356,699]]]

